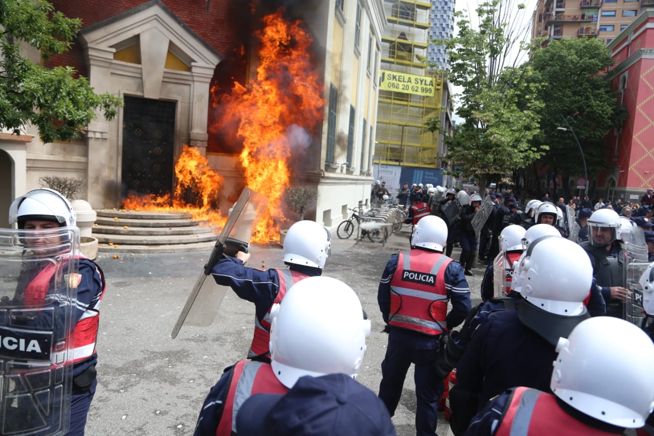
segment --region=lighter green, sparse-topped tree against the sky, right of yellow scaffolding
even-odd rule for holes
[[[445,158],[458,172],[479,177],[481,186],[489,175],[524,168],[543,153],[532,145],[541,103],[521,100],[533,90],[525,80],[528,68],[516,67],[527,48],[520,41],[528,27],[521,27],[515,14],[524,15],[524,10],[513,0],[482,3],[475,11],[476,28],[457,12],[458,35],[444,41],[451,64],[448,79],[463,88],[457,113],[464,119],[456,134],[445,139]]]

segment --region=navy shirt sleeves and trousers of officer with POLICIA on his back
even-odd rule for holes
[[[398,254],[392,255],[379,282],[377,302],[385,323],[390,313],[390,280],[398,267]],[[447,329],[453,329],[470,311],[470,289],[460,264],[451,262],[445,269],[445,289],[452,303],[447,314]],[[406,373],[415,365],[417,408],[415,425],[417,435],[434,435],[438,419],[438,401],[443,394],[443,380],[436,378],[434,361],[438,351],[438,336],[424,335],[398,327],[390,327],[388,348],[381,363],[382,380],[379,398],[391,416],[402,396]]]

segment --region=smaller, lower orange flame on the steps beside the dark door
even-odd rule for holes
[[[153,194],[137,197],[129,195],[122,201],[122,208],[156,212],[186,212],[192,219],[207,221],[216,229],[227,221],[215,208],[217,194],[222,188],[222,176],[209,168],[207,158],[188,145],[175,164],[175,191],[170,194]]]

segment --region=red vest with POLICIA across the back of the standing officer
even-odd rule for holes
[[[433,251],[414,249],[398,257],[390,280],[388,324],[426,333],[443,333],[447,316],[445,269],[452,261]]]

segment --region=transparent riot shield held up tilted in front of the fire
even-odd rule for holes
[[[177,337],[182,325],[208,327],[213,323],[220,303],[230,288],[218,285],[213,279],[206,280],[207,276],[211,274],[211,268],[215,266],[222,255],[235,256],[237,251],[247,253],[252,232],[264,214],[267,204],[266,196],[247,188],[243,189],[239,200],[230,212],[225,227],[222,228],[220,236],[216,240],[209,261],[202,268],[182,313],[173,327],[171,333],[173,339]]]

